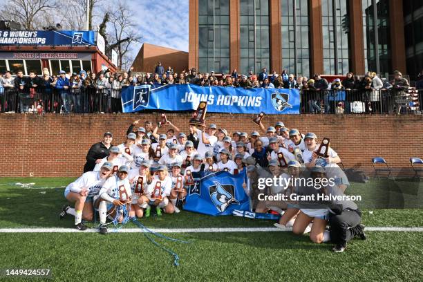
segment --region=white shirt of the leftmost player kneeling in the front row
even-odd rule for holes
[[[66,187],[65,194],[70,191],[79,193],[82,189],[86,189],[88,191],[88,197],[95,196],[106,180],[107,178],[100,178],[100,172],[98,171],[87,171]]]

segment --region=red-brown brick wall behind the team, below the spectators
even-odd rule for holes
[[[169,120],[188,131],[189,113],[168,113]],[[257,130],[253,115],[208,113],[207,120],[231,133]],[[0,115],[0,176],[79,176],[86,152],[105,131],[120,144],[135,119],[160,120],[157,113],[121,115]],[[327,137],[346,167],[370,169],[373,156],[383,156],[393,167],[410,167],[409,158],[423,158],[423,115],[267,115]]]

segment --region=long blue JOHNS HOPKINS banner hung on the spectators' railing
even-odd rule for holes
[[[169,84],[154,87],[149,84],[129,86],[122,91],[124,113],[135,111],[195,110],[200,101],[207,101],[207,111],[212,113],[299,114],[298,89],[233,88],[222,86],[196,86],[194,84]]]

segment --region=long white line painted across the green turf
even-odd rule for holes
[[[151,231],[158,233],[223,233],[223,232],[289,232],[292,228],[275,227],[229,227],[229,228],[151,228]],[[379,232],[423,232],[423,227],[366,227],[367,231]],[[98,232],[96,228],[86,231],[79,231],[74,228],[0,228],[0,233],[86,233]],[[109,233],[115,232],[113,227],[109,228]],[[119,233],[144,232],[140,228],[122,228]]]

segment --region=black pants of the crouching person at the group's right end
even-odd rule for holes
[[[330,214],[330,241],[335,244],[347,243],[357,234],[356,226],[361,222],[359,209],[344,209],[341,214]]]

